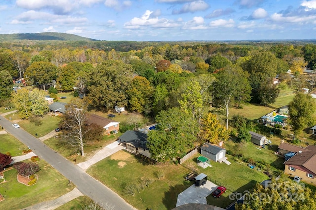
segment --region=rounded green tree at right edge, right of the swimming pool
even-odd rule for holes
[[[289,103],[289,123],[292,125],[294,135],[297,136],[308,126],[315,123],[315,99],[309,94],[297,93]]]

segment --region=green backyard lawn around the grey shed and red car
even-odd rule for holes
[[[245,163],[236,163],[232,156],[227,154],[226,157],[228,157],[228,161],[232,163],[231,165],[211,161],[210,164],[212,167],[203,169],[196,164],[198,156],[200,156],[199,153],[184,162],[182,165],[198,173],[204,173],[208,175],[208,178],[210,178],[216,185],[222,185],[228,188],[221,198],[214,198],[211,195],[208,196],[207,203],[211,205],[225,208],[233,202],[233,200],[229,198],[229,195],[233,191],[244,192],[245,190],[250,190],[257,182],[260,183],[268,178],[268,176],[263,174],[262,171],[250,169]]]

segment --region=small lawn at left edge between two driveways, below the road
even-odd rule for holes
[[[22,155],[23,150],[28,148],[14,138],[11,134],[0,135],[0,152],[5,154],[10,152],[13,157]]]

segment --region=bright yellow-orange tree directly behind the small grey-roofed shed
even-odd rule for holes
[[[229,138],[230,131],[220,123],[217,116],[212,113],[208,113],[201,120],[201,138],[210,143],[218,144],[220,141],[226,141]]]

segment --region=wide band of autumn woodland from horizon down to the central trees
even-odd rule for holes
[[[3,103],[10,97],[6,90],[12,88],[11,78],[23,77],[28,85],[43,90],[56,80],[58,91],[73,91],[76,87],[76,92],[86,96],[95,108],[125,106],[130,111],[156,116],[159,126],[149,134],[148,146],[154,157],[167,161],[182,156],[195,141],[199,144],[213,139],[216,143],[228,138],[225,132],[232,104],[275,102],[280,86],[272,80],[277,74],[294,90],[310,85],[302,72],[306,66],[315,68],[315,63],[313,44],[164,44],[128,52],[57,49],[50,45],[2,48],[0,78],[5,79],[1,80],[0,99]],[[295,80],[286,73],[288,69]],[[30,113],[42,115],[32,108],[31,96],[27,98],[30,100],[18,106],[21,110],[29,107],[24,117]],[[216,125],[220,119],[209,115],[211,107],[225,111],[226,129]],[[209,126],[214,128],[213,133]],[[159,138],[166,141],[156,141]],[[157,148],[160,151],[155,153]]]

